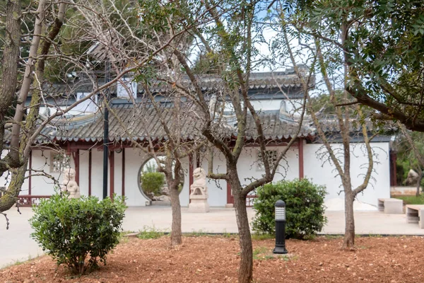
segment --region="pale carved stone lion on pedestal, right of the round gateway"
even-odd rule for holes
[[[189,212],[209,212],[206,172],[202,168],[196,168],[193,178],[193,184],[190,186]]]

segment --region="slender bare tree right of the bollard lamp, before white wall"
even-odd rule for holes
[[[280,15],[280,18],[284,16]],[[312,37],[312,39],[306,37],[302,40],[300,34],[296,33],[296,26],[289,25],[288,22],[283,21],[283,27],[281,28],[281,37],[283,37],[284,49],[287,50],[286,54],[288,59],[293,64],[295,71],[298,76],[302,74],[298,68],[298,62],[301,62],[302,52],[293,52],[293,40],[300,42],[298,49],[300,48],[303,52],[309,52],[311,56],[315,58],[312,69],[317,69],[319,74],[322,76],[322,82],[324,83],[324,89],[329,93],[329,100],[331,106],[335,109],[336,126],[340,134],[341,139],[341,153],[335,148],[332,137],[326,133],[324,127],[326,122],[320,119],[319,113],[314,112],[310,92],[307,91],[309,86],[302,82],[302,86],[307,93],[307,108],[308,112],[312,117],[314,126],[317,128],[319,138],[322,140],[328,154],[328,160],[336,167],[337,175],[341,178],[341,183],[345,198],[345,236],[343,239],[343,248],[353,248],[355,244],[355,219],[353,214],[353,202],[355,197],[365,190],[370,182],[371,174],[374,167],[373,151],[370,146],[370,131],[367,128],[367,120],[363,115],[363,109],[358,106],[355,100],[351,99],[346,89],[348,76],[350,72],[346,63],[346,58],[343,57],[342,50],[334,49],[334,45],[329,42],[322,42],[318,37]],[[341,27],[341,33],[339,33],[339,40],[343,42],[344,35]],[[293,35],[290,37],[288,31]],[[336,88],[341,88],[342,96],[336,96]],[[353,105],[353,109],[351,108]],[[355,112],[358,115],[355,115]],[[369,122],[369,121],[368,121]],[[367,156],[367,164],[365,166],[365,173],[360,176],[362,182],[358,187],[353,188],[352,176],[351,176],[351,156],[352,156],[352,145],[351,135],[355,125],[360,127],[360,137],[363,139],[363,145],[365,146],[365,154]]]

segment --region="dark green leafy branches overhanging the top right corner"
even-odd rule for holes
[[[328,58],[327,71],[348,62],[346,90],[351,95],[409,129],[424,132],[424,1],[288,3],[287,23],[295,28],[284,28],[291,34],[299,30],[295,37],[319,40]]]

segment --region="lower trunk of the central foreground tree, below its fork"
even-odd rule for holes
[[[246,197],[241,195],[241,187],[239,184],[232,183],[231,187],[233,188],[232,193],[234,195],[235,219],[237,221],[237,228],[240,236],[240,267],[238,282],[249,283],[252,282],[253,248],[246,210]]]

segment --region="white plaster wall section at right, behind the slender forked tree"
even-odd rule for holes
[[[333,149],[341,149],[341,144],[333,144]],[[390,197],[390,167],[389,167],[389,143],[372,143],[374,151],[374,172],[372,180],[367,188],[358,195],[360,202],[376,205],[377,198]],[[341,179],[335,171],[334,165],[323,158],[319,158],[319,154],[326,152],[322,148],[322,144],[306,144],[304,146],[305,160],[305,177],[312,179],[312,182],[326,186],[326,201],[332,199],[343,200],[344,194],[341,192]],[[353,188],[363,182],[363,174],[367,169],[367,157],[365,144],[351,144],[351,180]],[[328,156],[328,155],[326,155]],[[338,193],[340,192],[340,195]]]

